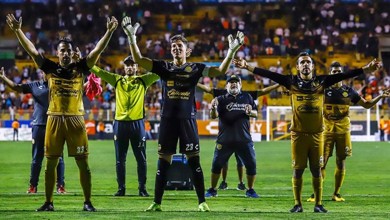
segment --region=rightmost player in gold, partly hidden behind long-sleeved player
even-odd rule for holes
[[[342,72],[343,68],[339,62],[333,62],[329,67],[330,75]],[[324,179],[328,159],[333,155],[333,148],[336,145],[333,201],[345,201],[340,195],[340,188],[345,177],[345,159],[352,155],[349,104],[352,102],[369,109],[385,97],[390,97],[390,90],[385,90],[371,101],[366,101],[352,87],[343,85],[341,81],[325,89],[323,107],[325,130],[323,132],[323,167],[321,168],[321,174],[322,179]],[[314,194],[307,201],[314,202]]]

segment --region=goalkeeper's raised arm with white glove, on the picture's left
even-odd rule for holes
[[[127,16],[123,18],[122,28],[124,30],[124,33],[126,33],[127,35],[128,44],[130,46],[130,50],[132,51],[134,62],[136,62],[136,64],[138,64],[145,70],[151,71],[153,68],[153,61],[150,58],[143,57],[137,45],[136,33],[138,27],[140,27],[139,23],[136,23],[134,26],[132,26],[131,18]]]

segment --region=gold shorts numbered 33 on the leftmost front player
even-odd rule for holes
[[[61,156],[67,142],[68,156],[88,155],[88,137],[83,115],[47,118],[45,156]]]

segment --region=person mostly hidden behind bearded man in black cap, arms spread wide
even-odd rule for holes
[[[253,100],[257,100],[258,97],[267,95],[271,91],[279,88],[279,84],[275,84],[272,86],[269,86],[264,89],[259,89],[255,91],[245,91],[249,93],[249,95],[252,97]],[[200,90],[211,94],[214,98],[218,96],[223,96],[228,93],[226,89],[217,89],[217,88],[210,88],[206,85],[203,85],[201,83],[197,84],[197,88]],[[236,162],[237,162],[237,173],[238,173],[238,184],[237,184],[237,190],[248,190],[245,187],[245,183],[243,182],[243,174],[244,174],[244,163],[242,162],[241,158],[237,155],[237,153],[234,153],[236,157]],[[226,162],[225,165],[222,167],[221,175],[222,175],[222,182],[219,184],[218,190],[228,190],[228,183],[226,182],[226,176],[228,175],[228,166],[229,165],[229,159]]]

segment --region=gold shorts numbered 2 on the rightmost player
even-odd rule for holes
[[[323,135],[323,155],[331,157],[336,145],[336,155],[352,156],[351,133]]]

